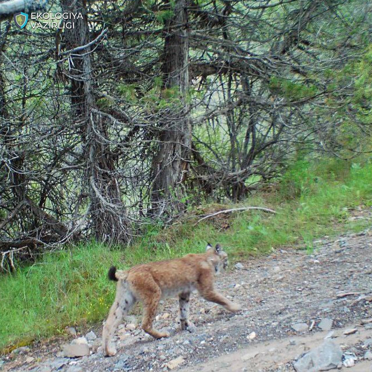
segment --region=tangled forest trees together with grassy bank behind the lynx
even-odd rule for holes
[[[102,319],[111,263],[311,249],[371,206],[368,1],[35,3],[74,28],[0,14],[1,347]],[[276,214],[198,223],[246,205]]]

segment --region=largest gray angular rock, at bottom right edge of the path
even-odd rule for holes
[[[337,368],[339,363],[342,363],[340,346],[331,340],[326,340],[299,357],[293,366],[296,371],[328,371]]]

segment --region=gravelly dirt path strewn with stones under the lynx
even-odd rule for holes
[[[7,356],[0,368],[293,371],[293,361],[328,336],[341,345],[344,353],[355,355],[355,366],[342,370],[372,371],[372,360],[363,357],[368,350],[372,352],[372,323],[362,325],[362,320],[372,318],[372,230],[337,240],[325,237],[315,246],[311,255],[293,248],[282,249],[241,262],[241,269],[233,268],[217,277],[218,289],[243,304],[240,313],[227,313],[193,294],[195,333],[177,330],[178,305],[170,299],[161,304],[155,322],[157,328],[168,328],[169,339],[153,340],[138,325],[135,329],[133,325],[122,325],[116,337],[118,354],[105,358],[100,348],[100,327],[94,330],[99,337],[89,340],[90,356],[65,358],[61,350],[67,341],[49,340]],[[346,292],[355,294],[340,296]],[[324,318],[331,319],[330,331],[319,328]],[[133,323],[137,318],[131,316],[129,321]],[[292,328],[301,323],[306,323],[306,327],[302,324],[306,328],[302,332]],[[344,330],[350,328],[356,328],[355,333],[344,335]]]

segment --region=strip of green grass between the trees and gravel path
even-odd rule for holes
[[[195,219],[186,220],[163,231],[149,226],[144,238],[131,247],[81,244],[2,276],[0,349],[63,333],[66,325],[84,327],[105,318],[115,291],[106,278],[112,264],[124,268],[202,252],[207,241],[222,243],[234,260],[286,244],[311,249],[312,240],[321,235],[362,229],[365,222],[351,223],[347,218],[353,207],[372,205],[372,164],[298,161],[271,192],[257,193],[241,205],[268,206],[277,214],[243,212],[196,225]],[[222,229],[221,222],[229,228]]]

